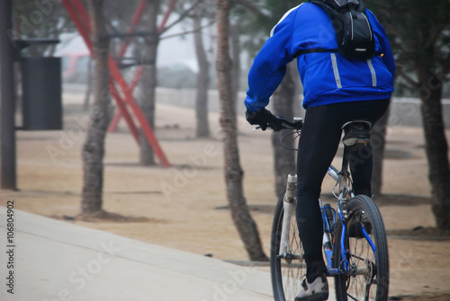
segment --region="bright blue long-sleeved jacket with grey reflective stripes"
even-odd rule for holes
[[[375,51],[368,60],[349,60],[338,52],[297,54],[306,49],[338,49],[329,15],[318,5],[304,3],[284,14],[257,54],[248,74],[245,100],[249,111],[266,107],[281,83],[286,64],[297,58],[303,84],[303,107],[336,102],[388,99],[393,91],[395,65],[382,25],[366,10]]]

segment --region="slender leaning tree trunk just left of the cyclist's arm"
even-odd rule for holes
[[[236,113],[232,102],[232,62],[229,58],[229,0],[217,0],[216,4],[218,33],[216,68],[220,95],[220,126],[224,135],[224,168],[229,209],[250,260],[268,261],[261,245],[257,224],[248,210],[242,187],[244,172],[239,162]]]

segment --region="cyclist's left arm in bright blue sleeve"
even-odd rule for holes
[[[293,60],[289,48],[293,33],[296,8],[286,13],[275,25],[272,36],[257,54],[248,73],[248,90],[245,100],[249,111],[266,107],[286,73],[286,64]]]

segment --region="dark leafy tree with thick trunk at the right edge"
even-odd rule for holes
[[[374,6],[392,37],[397,73],[421,100],[433,213],[448,234],[450,166],[441,99],[450,74],[450,2],[383,0]]]

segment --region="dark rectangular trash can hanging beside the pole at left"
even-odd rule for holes
[[[23,129],[62,129],[61,58],[22,58]]]

